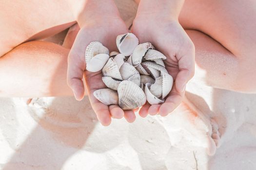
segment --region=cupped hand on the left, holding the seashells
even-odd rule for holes
[[[123,20],[118,17],[100,16],[98,19],[87,19],[72,46],[68,56],[68,85],[74,91],[77,100],[82,100],[85,89],[83,84],[83,76],[87,94],[91,102],[92,108],[97,114],[98,120],[102,125],[109,125],[111,117],[120,119],[123,116],[127,121],[135,120],[135,114],[131,110],[123,111],[118,105],[107,106],[99,102],[93,95],[95,90],[107,88],[102,82],[102,72],[90,72],[86,70],[85,49],[92,41],[99,41],[109,51],[117,51],[116,37],[119,34],[127,33],[127,27]]]

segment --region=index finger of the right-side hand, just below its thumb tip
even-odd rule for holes
[[[182,102],[184,97],[185,91],[182,93],[177,92],[176,86],[174,84],[173,89],[169,93],[168,97],[166,98],[165,102],[159,108],[159,115],[167,116],[171,113],[177,106]]]

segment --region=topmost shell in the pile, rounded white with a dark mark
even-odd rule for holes
[[[125,56],[131,55],[138,46],[138,38],[132,33],[118,35],[116,42],[118,50]]]

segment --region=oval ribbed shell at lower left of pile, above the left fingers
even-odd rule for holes
[[[118,93],[115,90],[103,88],[94,91],[93,95],[96,99],[98,99],[98,101],[104,103],[105,105],[118,105]]]

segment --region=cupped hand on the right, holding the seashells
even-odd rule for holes
[[[166,116],[181,103],[186,83],[193,77],[195,70],[195,47],[177,19],[137,13],[132,32],[139,42],[151,42],[158,51],[167,57],[165,68],[174,78],[174,85],[162,104],[146,103],[139,111],[141,117],[147,114]]]

